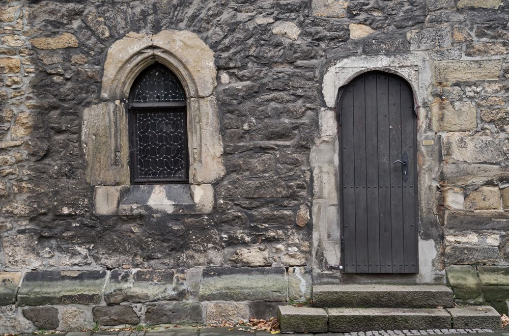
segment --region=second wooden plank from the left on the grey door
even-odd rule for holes
[[[366,117],[364,77],[353,85],[355,240],[357,272],[367,272]]]

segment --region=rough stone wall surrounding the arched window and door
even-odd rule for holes
[[[435,145],[417,153],[421,272],[353,281],[447,282],[507,313],[508,21],[507,0],[1,1],[0,332],[262,318],[348,281],[328,267],[323,83],[360,57],[408,74]],[[105,93],[158,54],[194,88],[182,204],[125,181],[123,98]]]

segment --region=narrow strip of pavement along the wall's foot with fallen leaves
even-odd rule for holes
[[[179,328],[157,328],[147,331],[83,331],[60,333],[59,336],[271,336],[268,331],[252,331],[247,332],[234,330],[231,328],[196,328],[196,327],[179,327]],[[477,336],[509,336],[509,330],[492,330],[492,329],[427,329],[427,330],[377,330],[365,332],[348,332],[348,333],[321,333],[314,336],[416,336],[416,335],[461,335],[465,333],[475,333]],[[21,336],[33,336],[34,334],[23,334]],[[299,336],[311,336],[313,334],[298,334]]]

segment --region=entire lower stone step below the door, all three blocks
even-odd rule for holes
[[[356,332],[372,330],[500,329],[491,306],[437,308],[313,308],[279,306],[282,332]]]

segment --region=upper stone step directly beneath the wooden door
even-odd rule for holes
[[[442,285],[315,285],[315,307],[452,307],[453,291]]]

